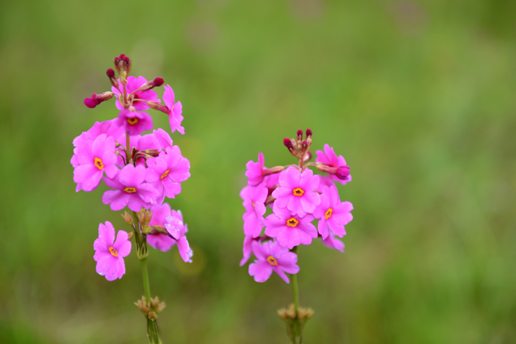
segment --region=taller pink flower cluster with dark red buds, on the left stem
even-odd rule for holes
[[[124,54],[115,57],[115,71],[106,74],[111,82],[111,91],[95,94],[84,100],[89,108],[116,98],[118,116],[95,124],[73,140],[71,164],[76,191],[93,191],[101,181],[110,190],[104,191],[102,202],[111,210],[127,207],[134,212],[150,209],[154,213],[149,223],[138,225],[159,226],[162,232],[152,231],[147,241],[152,247],[167,251],[178,245],[181,257],[191,263],[192,250],[186,240],[187,226],[180,211],[171,210],[163,203],[165,197],[175,198],[181,192],[181,183],[190,177],[190,162],[183,157],[179,146],[162,128],[153,129],[149,108],[167,114],[170,129],[184,134],[182,104],[175,102],[174,92],[164,86],[164,105],[152,89],[162,86],[157,77],[147,81],[143,76],[129,76],[131,59]],[[148,133],[144,133],[148,132]],[[138,221],[133,219],[128,222]],[[166,228],[166,231],[163,230]],[[141,231],[141,228],[138,228]],[[168,231],[168,233],[167,233]],[[146,233],[139,233],[146,238]],[[140,243],[141,245],[141,243]],[[119,231],[115,241],[115,229],[110,222],[99,226],[99,238],[94,243],[97,272],[112,281],[125,273],[123,257],[131,251],[131,241],[124,231]]]

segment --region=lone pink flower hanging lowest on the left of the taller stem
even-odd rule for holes
[[[124,257],[131,253],[131,241],[127,240],[127,232],[118,231],[115,241],[115,228],[111,222],[99,224],[99,237],[93,242],[97,262],[96,272],[105,276],[106,280],[121,279],[125,273]]]

